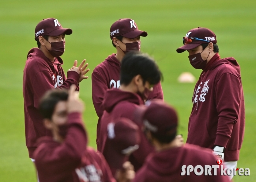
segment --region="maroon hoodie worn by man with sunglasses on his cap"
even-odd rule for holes
[[[244,138],[245,106],[240,66],[215,54],[195,86],[187,143],[225,147],[224,161],[239,159]]]

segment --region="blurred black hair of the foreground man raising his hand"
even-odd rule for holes
[[[52,119],[54,108],[59,101],[68,100],[68,90],[53,89],[45,93],[39,103],[39,111],[44,119]]]

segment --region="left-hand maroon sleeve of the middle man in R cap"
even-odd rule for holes
[[[101,74],[93,72],[91,74],[92,94],[93,94],[93,105],[98,117],[101,117],[104,111],[103,98],[104,93],[108,90],[108,83]]]

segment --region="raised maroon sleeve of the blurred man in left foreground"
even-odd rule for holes
[[[36,151],[35,164],[38,171],[56,171],[59,173],[70,173],[81,162],[83,152],[87,146],[87,135],[82,123],[81,113],[70,113],[68,115],[68,132],[65,141],[57,147],[46,147]],[[40,146],[39,146],[40,147]],[[52,172],[50,172],[52,174]],[[42,174],[42,173],[41,173]]]

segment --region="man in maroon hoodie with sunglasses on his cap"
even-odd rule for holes
[[[203,70],[193,93],[187,143],[211,148],[228,168],[236,168],[245,128],[240,66],[233,57],[221,59],[216,43],[214,32],[198,27],[177,49],[187,50],[191,65]]]

